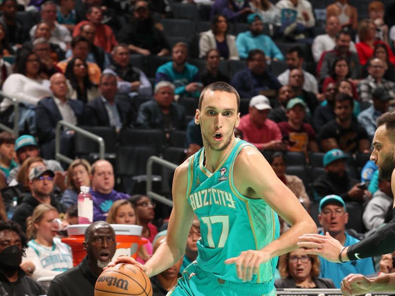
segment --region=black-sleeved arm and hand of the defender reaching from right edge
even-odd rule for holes
[[[391,188],[394,194],[395,170],[391,177]],[[390,222],[377,230],[371,236],[361,240],[355,245],[343,249],[340,242],[331,237],[328,233],[326,235],[312,233],[301,236],[299,238],[298,246],[309,248],[309,250],[304,251],[307,254],[316,254],[329,261],[340,262],[340,256],[342,261],[349,261],[392,253],[395,250],[394,241],[395,209],[393,209],[393,216]]]

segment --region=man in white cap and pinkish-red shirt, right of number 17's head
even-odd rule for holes
[[[243,140],[252,143],[260,150],[286,150],[281,141],[282,135],[276,122],[268,119],[269,99],[263,95],[251,99],[248,114],[240,118],[237,130],[241,131]]]

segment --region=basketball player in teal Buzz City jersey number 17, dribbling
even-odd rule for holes
[[[173,265],[185,253],[195,212],[201,232],[197,260],[168,295],[276,295],[277,256],[296,249],[298,237],[316,225],[261,152],[235,138],[239,100],[225,82],[202,91],[195,122],[203,148],[174,173],[166,241],[145,265],[120,257],[112,266],[136,264],[151,277]],[[292,225],[279,238],[276,213]]]

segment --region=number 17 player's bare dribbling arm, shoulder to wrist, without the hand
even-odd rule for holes
[[[186,198],[188,163],[189,159],[181,164],[174,173],[173,209],[167,227],[167,236],[151,259],[145,263],[149,277],[174,265],[185,254],[189,230],[194,220],[194,212]]]

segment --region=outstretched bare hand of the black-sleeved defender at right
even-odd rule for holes
[[[329,232],[325,235],[308,233],[299,237],[299,248],[305,247],[305,254],[319,255],[328,261],[340,262],[339,253],[343,249],[342,244],[335,238],[331,237]],[[343,251],[345,254],[346,251]]]

